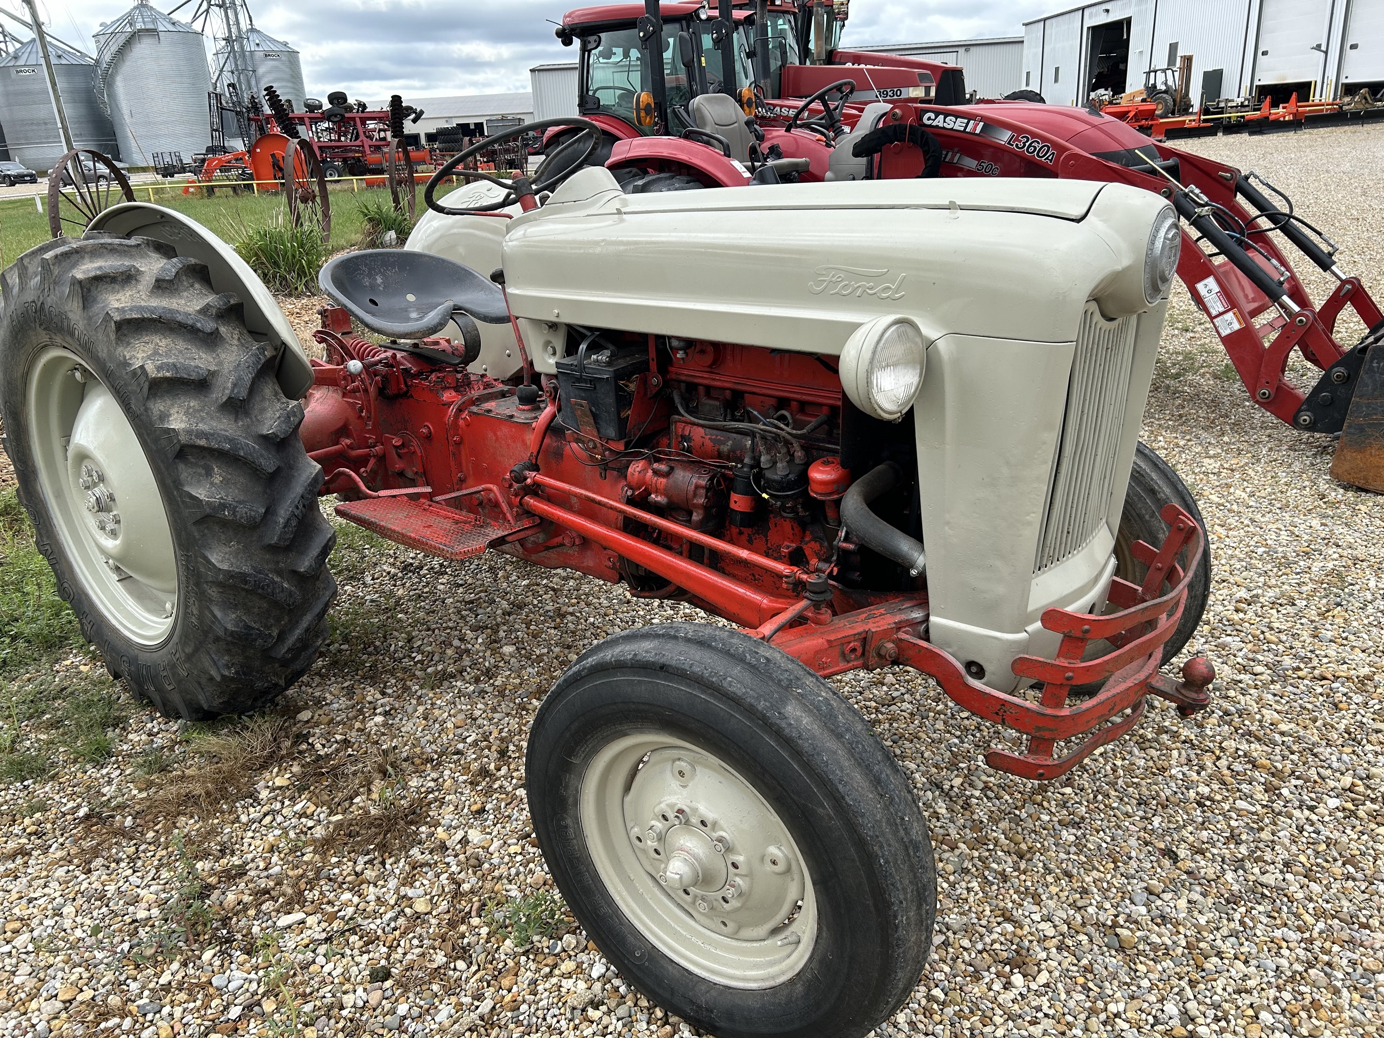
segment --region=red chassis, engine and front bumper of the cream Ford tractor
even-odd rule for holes
[[[704,495],[716,466],[725,472],[735,439],[680,426],[659,410],[660,388],[673,383],[698,397],[734,389],[758,407],[790,400],[805,428],[841,406],[839,378],[811,357],[696,343],[660,360],[648,336],[650,370],[638,376],[631,426],[667,428],[656,443],[673,430],[678,439],[631,461],[630,443],[597,440],[555,421],[555,382],[545,394],[534,388],[520,396],[464,367],[354,338],[345,310],[322,317],[316,338],[328,360],[313,361],[300,435],[324,469],[322,493],[346,498],[338,515],[389,540],[453,559],[495,548],[540,566],[624,579],[637,595],[680,597],[724,616],[822,675],[913,667],[963,709],[1023,735],[1023,752],[996,747],[987,761],[1030,779],[1057,778],[1127,732],[1149,695],[1169,699],[1183,716],[1210,703],[1215,671],[1205,660],[1189,662],[1182,681],[1157,673],[1204,551],[1203,531],[1175,505],[1163,509],[1167,540],[1133,547],[1149,566],[1143,585],[1116,579],[1109,591],[1116,612],[1107,614],[1049,609],[1042,626],[1062,635],[1056,657],[1013,663],[1035,692],[996,692],[927,641],[926,591],[866,592],[828,580],[822,567],[832,544],[792,523],[771,522],[767,533],[729,523],[702,530],[648,507],[652,500],[691,505],[689,495]],[[451,350],[446,339],[424,345]],[[818,464],[812,494],[835,501],[850,473],[835,457]],[[641,587],[635,573],[666,584]],[[1100,655],[1086,659],[1096,642]],[[1093,682],[1103,682],[1099,692],[1068,702],[1074,688]],[[1059,753],[1067,740],[1078,742]]]

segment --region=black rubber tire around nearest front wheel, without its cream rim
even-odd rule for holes
[[[630,922],[580,823],[587,765],[631,732],[714,753],[778,812],[805,859],[818,936],[803,967],[767,990],[695,974]],[[854,1038],[912,994],[931,949],[937,876],[904,772],[841,696],[743,634],[660,624],[588,649],[538,709],[529,810],[548,868],[597,947],[646,996],[718,1038]]]

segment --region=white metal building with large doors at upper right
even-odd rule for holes
[[[1384,0],[1104,0],[1024,24],[1023,86],[1049,104],[1145,84],[1190,54],[1200,97],[1275,104],[1384,90]]]

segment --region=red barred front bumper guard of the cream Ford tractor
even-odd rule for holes
[[[1030,779],[1055,779],[1138,724],[1150,693],[1176,703],[1183,717],[1211,703],[1207,686],[1215,680],[1215,668],[1208,660],[1200,656],[1187,660],[1182,681],[1158,674],[1163,646],[1178,628],[1190,574],[1205,549],[1205,536],[1190,515],[1165,505],[1161,516],[1168,523],[1163,547],[1154,549],[1143,541],[1132,547],[1133,556],[1149,566],[1143,585],[1120,577],[1111,580],[1109,602],[1120,612],[1095,616],[1049,609],[1042,614],[1042,626],[1062,635],[1056,657],[1019,656],[1013,662],[1014,674],[1041,682],[1037,703],[973,681],[955,657],[925,641],[919,620],[926,613],[916,601],[848,613],[819,627],[789,628],[771,638],[771,644],[818,673],[890,663],[920,670],[936,678],[959,706],[1028,736],[1024,753],[994,749],[985,754],[992,768]],[[1178,563],[1183,548],[1189,556],[1186,567]],[[837,627],[844,638],[832,637],[832,628]],[[1089,644],[1100,639],[1113,650],[1085,659]],[[837,653],[844,666],[833,666]],[[1099,681],[1104,684],[1093,696],[1067,704],[1073,688]],[[1125,716],[1114,720],[1120,714]],[[1088,738],[1075,750],[1053,756],[1057,742],[1081,735]]]

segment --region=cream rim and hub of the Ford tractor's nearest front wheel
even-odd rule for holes
[[[626,735],[595,754],[580,803],[610,895],[680,966],[761,990],[807,963],[817,900],[803,855],[778,812],[713,753]]]

